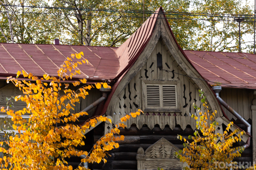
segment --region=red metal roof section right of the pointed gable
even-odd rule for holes
[[[256,87],[256,55],[249,53],[184,50],[205,80],[223,87]],[[209,84],[214,84],[208,82]]]

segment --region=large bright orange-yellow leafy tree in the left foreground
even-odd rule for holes
[[[80,98],[88,95],[88,89],[93,85],[86,84],[86,79],[73,81],[73,85],[82,84],[76,91],[68,89],[68,83],[65,80],[71,80],[76,74],[77,66],[82,62],[74,62],[74,57],[80,59],[83,53],[73,54],[64,61],[58,70],[59,77],[43,75],[42,78],[34,76],[31,73],[22,71],[23,77],[30,80],[16,80],[8,77],[7,82],[12,82],[16,87],[23,91],[23,95],[15,96],[15,101],[21,100],[27,104],[22,110],[14,112],[10,108],[1,107],[1,112],[6,112],[11,116],[14,123],[13,129],[17,130],[20,135],[5,134],[5,140],[0,142],[0,152],[4,154],[0,158],[0,167],[3,170],[72,170],[65,158],[71,156],[85,155],[81,159],[77,169],[85,169],[82,162],[106,162],[104,158],[106,152],[119,147],[116,141],[124,140],[124,136],[116,137],[119,134],[118,127],[126,127],[123,123],[111,128],[102,138],[93,146],[90,152],[82,151],[76,146],[84,145],[84,133],[91,126],[94,127],[97,122],[109,121],[110,119],[103,116],[96,116],[88,119],[81,124],[78,118],[88,115],[86,112],[72,113],[75,103]],[[73,71],[75,70],[75,71]],[[18,71],[17,77],[21,72]],[[111,88],[107,83],[97,83],[95,86],[100,88]],[[61,95],[63,94],[63,95]],[[138,113],[142,113],[138,110]],[[131,113],[132,115],[139,115]],[[22,115],[29,114],[28,120]],[[122,122],[127,121],[130,116],[127,114],[121,118]]]

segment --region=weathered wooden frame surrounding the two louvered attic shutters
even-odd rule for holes
[[[145,112],[181,112],[181,82],[180,81],[159,81],[159,80],[141,80],[142,84],[142,108]],[[159,85],[160,107],[147,106],[147,85]],[[175,85],[176,91],[176,107],[167,108],[163,106],[163,92],[161,85]],[[161,104],[162,102],[162,104]],[[161,107],[162,106],[162,107]]]

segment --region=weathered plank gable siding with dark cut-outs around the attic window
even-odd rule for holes
[[[157,54],[162,54],[163,69],[160,70],[157,67]],[[170,72],[167,72],[168,70]],[[174,73],[172,73],[174,72]],[[179,74],[176,74],[179,73]],[[178,65],[175,59],[170,56],[170,52],[166,45],[159,40],[154,48],[151,56],[147,60],[146,64],[142,67],[140,72],[132,78],[130,83],[122,91],[119,101],[115,106],[114,114],[128,114],[135,112],[138,109],[142,109],[142,87],[141,80],[175,80],[181,82],[181,113],[164,113],[164,112],[148,112],[148,115],[177,115],[177,116],[189,116],[190,113],[194,114],[193,103],[202,107],[199,97],[198,86],[187,75],[185,71]],[[211,111],[210,105],[208,104]]]

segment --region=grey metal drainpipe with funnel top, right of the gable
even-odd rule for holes
[[[235,110],[233,110],[225,101],[222,100],[219,96],[219,92],[221,91],[221,86],[213,86],[211,89],[216,94],[217,99],[219,100],[219,103],[222,104],[232,115],[234,115],[238,120],[240,120],[246,127],[247,127],[247,133],[251,135],[251,125],[241,116],[239,115]],[[250,146],[250,138],[249,137],[246,141],[246,143],[243,145],[244,149]]]

